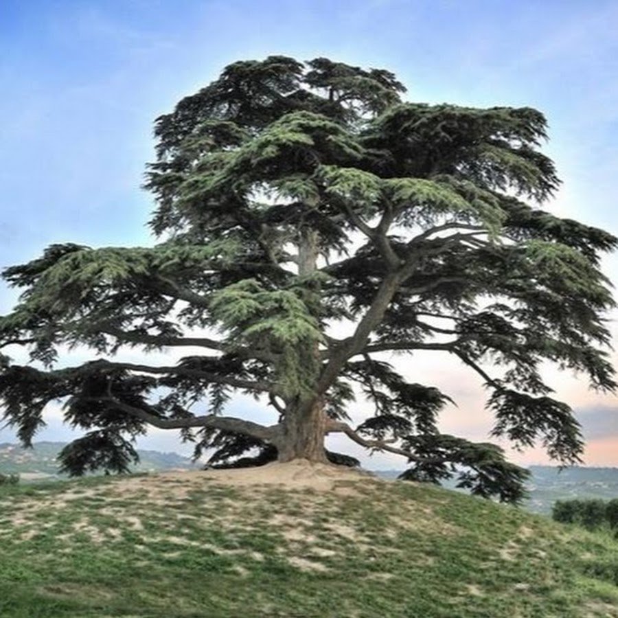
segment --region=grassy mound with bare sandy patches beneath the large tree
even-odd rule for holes
[[[411,483],[196,478],[1,488],[0,616],[618,617],[608,535]]]

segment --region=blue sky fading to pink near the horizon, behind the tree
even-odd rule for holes
[[[600,0],[3,0],[0,266],[52,242],[151,242],[152,202],[139,185],[153,119],[229,62],[270,54],[389,69],[409,100],[539,108],[564,181],[551,209],[618,233],[616,24],[618,1]],[[614,277],[618,260],[605,264]],[[0,289],[0,312],[14,298]],[[445,367],[432,360],[426,372],[439,381]],[[446,373],[459,397],[446,428],[485,438],[480,386],[459,369]],[[587,463],[618,466],[615,396],[551,376],[581,412]],[[55,418],[41,438],[66,437]],[[161,433],[144,443],[177,445]],[[544,461],[538,451],[516,458]]]

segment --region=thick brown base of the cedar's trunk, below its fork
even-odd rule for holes
[[[278,461],[308,459],[327,464],[324,449],[326,415],[321,400],[290,406],[277,441]]]

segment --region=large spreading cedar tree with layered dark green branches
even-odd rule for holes
[[[271,56],[230,65],[159,117],[146,179],[157,244],[55,244],[5,268],[23,293],[0,343],[32,361],[1,365],[22,442],[54,400],[86,432],[62,453],[75,474],[125,470],[149,424],[227,466],[355,464],[325,450],[343,433],[405,457],[405,478],[457,475],[518,501],[525,471],[497,446],[440,433],[448,393],[408,379],[423,355],[444,354],[488,389],[494,436],[579,461],[580,426],[540,365],[615,388],[599,255],[616,239],[541,208],[559,181],[540,112],[404,91],[381,69]],[[67,346],[96,357],[67,367]],[[127,346],[187,354],[128,363]],[[273,423],[226,416],[235,392]],[[354,427],[361,397],[374,414]]]

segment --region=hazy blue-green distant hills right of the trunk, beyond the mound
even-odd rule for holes
[[[618,498],[618,468],[557,468],[530,466],[531,478],[527,483],[529,499],[523,507],[534,513],[549,514],[557,500]],[[396,479],[400,470],[377,470],[385,479]],[[444,483],[447,489],[456,489],[455,482]],[[463,490],[462,490],[463,491]]]

